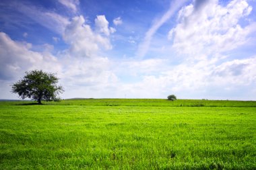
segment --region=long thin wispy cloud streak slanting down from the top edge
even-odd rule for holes
[[[162,26],[172,15],[174,15],[175,11],[177,11],[187,0],[175,0],[170,3],[170,8],[160,19],[158,19],[157,22],[155,22],[152,27],[146,32],[145,37],[143,38],[143,41],[139,44],[139,48],[137,50],[137,56],[143,57],[148,52],[148,49],[150,47],[150,42],[152,40],[152,36],[156,33],[158,28]]]

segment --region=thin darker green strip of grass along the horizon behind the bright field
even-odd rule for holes
[[[33,101],[1,101],[0,105],[33,105]],[[167,106],[167,107],[256,107],[256,101],[230,101],[207,99],[65,99],[61,102],[43,102],[46,105],[93,105],[93,106]]]

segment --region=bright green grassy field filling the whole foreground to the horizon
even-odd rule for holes
[[[1,101],[0,169],[256,169],[256,101]]]

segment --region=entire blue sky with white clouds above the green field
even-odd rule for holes
[[[0,98],[25,71],[62,98],[256,100],[255,0],[2,0]]]

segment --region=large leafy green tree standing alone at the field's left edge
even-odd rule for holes
[[[18,93],[22,98],[30,98],[42,104],[41,101],[59,101],[59,93],[63,87],[57,85],[59,79],[54,73],[43,71],[29,71],[23,79],[12,85],[12,93]]]

